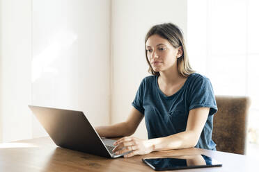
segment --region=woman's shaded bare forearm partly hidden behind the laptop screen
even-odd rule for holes
[[[136,128],[138,128],[139,123],[143,119],[143,114],[132,107],[130,116],[125,122],[116,123],[111,126],[99,126],[95,130],[98,132],[100,137],[125,137],[132,135]]]

